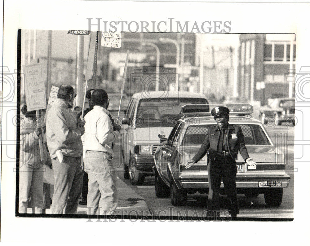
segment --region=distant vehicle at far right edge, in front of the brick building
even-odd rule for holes
[[[265,125],[295,125],[295,99],[276,98],[259,112],[261,121]]]

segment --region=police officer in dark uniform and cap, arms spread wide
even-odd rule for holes
[[[238,151],[246,163],[253,165],[255,162],[249,157],[244,143],[244,136],[239,125],[230,125],[229,109],[223,106],[211,110],[211,115],[217,123],[207,130],[206,138],[198,153],[188,161],[186,168],[197,163],[208,152],[208,178],[209,194],[207,209],[212,216],[219,217],[219,191],[223,176],[224,190],[228,198],[228,210],[231,217],[239,213],[236,192],[236,158]]]

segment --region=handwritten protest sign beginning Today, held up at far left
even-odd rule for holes
[[[27,110],[46,108],[45,86],[42,78],[41,64],[25,65],[25,95]]]

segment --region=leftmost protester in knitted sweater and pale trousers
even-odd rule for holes
[[[21,112],[25,115],[20,124],[20,168],[19,168],[19,213],[27,213],[31,198],[32,213],[42,213],[43,208],[43,164],[50,165],[51,158],[42,144],[41,161],[39,137],[41,128],[36,125],[36,112],[27,111],[24,105]],[[31,196],[30,196],[31,194]]]

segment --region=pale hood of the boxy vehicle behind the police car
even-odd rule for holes
[[[135,130],[135,139],[137,140],[137,143],[146,143],[149,141],[149,143],[160,144],[158,134],[164,132],[165,138],[167,138],[171,130],[172,127],[139,127]]]

